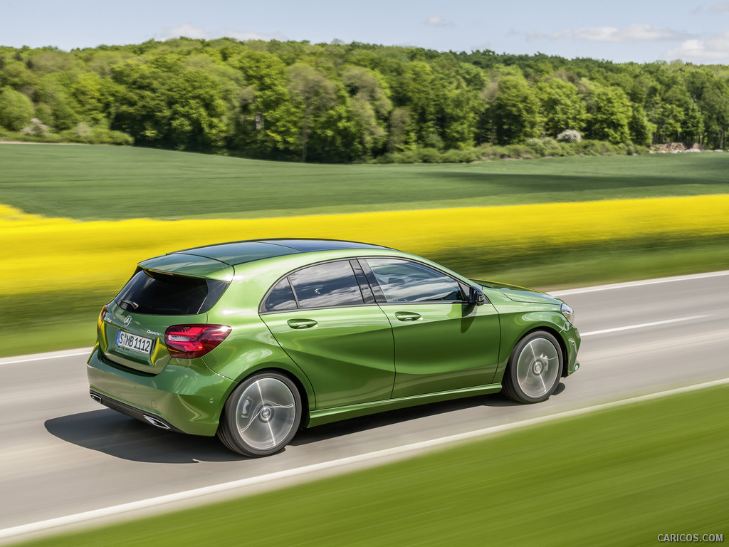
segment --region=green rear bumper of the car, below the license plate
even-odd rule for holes
[[[145,422],[150,422],[144,417],[149,416],[171,430],[208,437],[215,435],[222,407],[234,387],[232,380],[201,362],[197,366],[170,362],[152,375],[115,364],[98,347],[86,371],[90,391],[101,397],[101,404]]]

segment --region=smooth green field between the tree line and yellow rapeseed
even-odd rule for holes
[[[279,217],[729,193],[729,153],[313,165],[0,144],[0,203],[47,217]]]

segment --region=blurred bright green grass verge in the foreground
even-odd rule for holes
[[[729,534],[729,387],[28,546],[645,546]]]

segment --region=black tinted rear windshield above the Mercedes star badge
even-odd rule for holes
[[[120,308],[136,314],[204,314],[218,301],[228,282],[139,270],[114,298]]]

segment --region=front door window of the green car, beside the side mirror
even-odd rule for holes
[[[367,258],[388,302],[463,300],[461,285],[424,264],[397,258]]]

